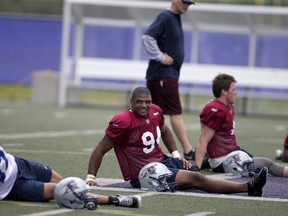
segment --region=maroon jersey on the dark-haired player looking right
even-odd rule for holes
[[[207,147],[209,158],[222,157],[237,150],[233,105],[211,100],[203,108],[200,121],[215,130]]]

